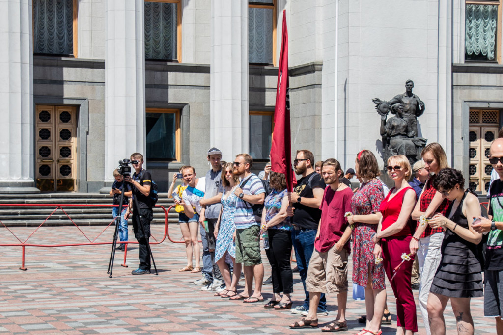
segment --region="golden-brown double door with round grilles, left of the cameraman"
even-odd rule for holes
[[[36,120],[37,187],[46,192],[75,191],[75,107],[37,105]]]

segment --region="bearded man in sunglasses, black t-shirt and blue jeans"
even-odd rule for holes
[[[306,276],[309,260],[314,249],[318,222],[321,217],[319,206],[323,198],[325,183],[319,173],[313,169],[314,155],[309,150],[297,150],[297,156],[293,161],[295,173],[302,175],[297,182],[295,192],[288,193],[288,200],[293,203],[293,227],[292,242],[295,250],[295,259],[299,268],[302,285],[304,285],[305,299],[300,306],[290,311],[295,314],[306,316],[309,311],[309,292],[306,291]],[[328,315],[326,311],[325,294],[321,294],[318,316]]]

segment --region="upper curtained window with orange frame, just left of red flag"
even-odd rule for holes
[[[248,1],[248,62],[273,64],[276,34],[275,0]]]

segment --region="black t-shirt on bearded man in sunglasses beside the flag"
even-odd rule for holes
[[[319,173],[313,172],[297,181],[295,192],[302,198],[313,198],[313,188],[325,189],[325,183]],[[301,199],[302,201],[302,199]],[[318,229],[321,210],[308,207],[301,203],[294,203],[293,224],[304,229]]]

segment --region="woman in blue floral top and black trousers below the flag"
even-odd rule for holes
[[[269,235],[269,249],[266,249],[266,255],[271,264],[273,297],[264,307],[290,309],[292,307],[290,293],[293,292],[293,274],[290,266],[293,226],[286,212],[289,202],[285,174],[271,172],[269,183],[272,191],[264,200],[262,227],[267,229]]]

